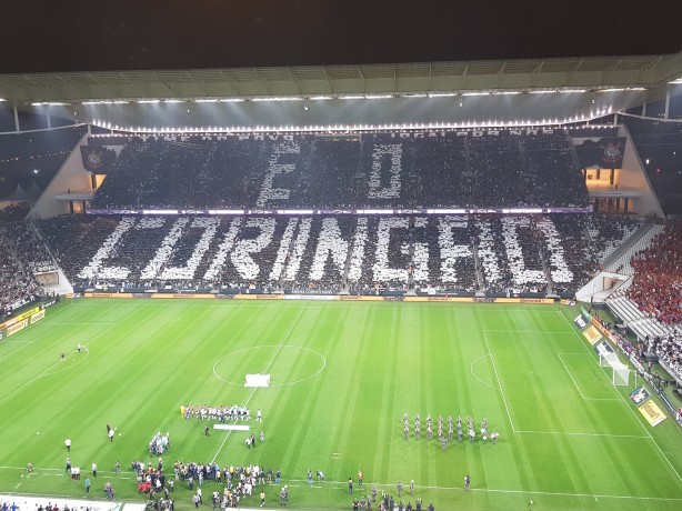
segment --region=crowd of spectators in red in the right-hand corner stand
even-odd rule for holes
[[[628,298],[665,324],[682,323],[682,224],[668,226],[630,264]]]

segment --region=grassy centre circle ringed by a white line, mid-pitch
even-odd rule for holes
[[[231,385],[244,387],[247,374],[270,374],[270,387],[301,383],[327,367],[324,355],[301,345],[267,344],[242,348],[213,363],[213,374]]]

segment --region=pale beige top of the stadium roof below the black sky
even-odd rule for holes
[[[18,103],[254,99],[467,91],[655,89],[682,77],[682,52],[630,57],[471,60],[359,66],[0,74],[0,98]]]

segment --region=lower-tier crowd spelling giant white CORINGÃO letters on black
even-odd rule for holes
[[[589,217],[67,216],[39,228],[79,288],[571,293],[601,262]]]

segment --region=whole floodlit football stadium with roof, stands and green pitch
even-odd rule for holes
[[[680,509],[682,48],[534,42],[3,68],[0,508]]]

